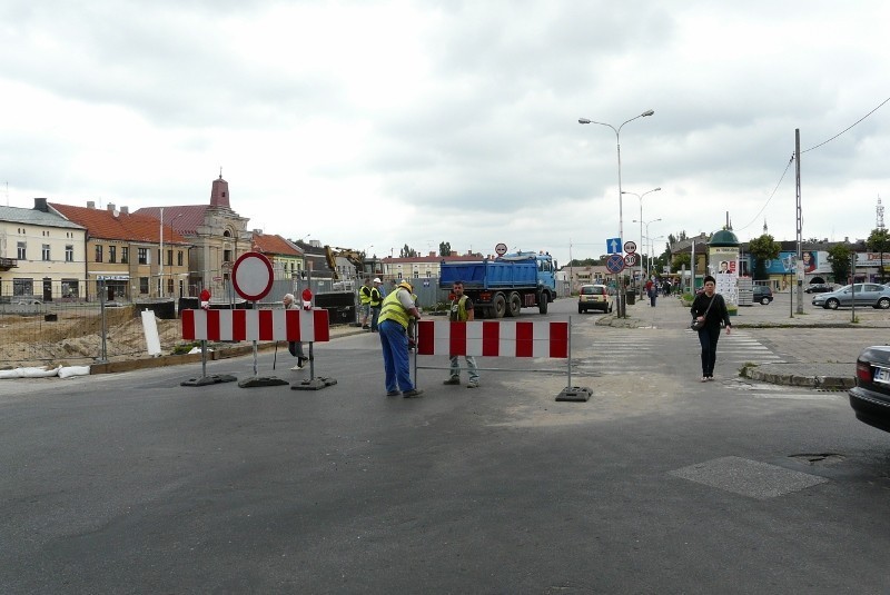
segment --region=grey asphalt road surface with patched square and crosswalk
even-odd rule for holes
[[[761,329],[702,384],[682,325],[601,317],[572,317],[586,403],[554,400],[564,360],[510,358],[387,398],[370,334],[316,346],[317,391],[179,386],[199,366],[3,380],[0,592],[886,592],[890,435],[842,393],[740,380],[789,357]]]

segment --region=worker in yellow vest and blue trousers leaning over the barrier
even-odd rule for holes
[[[408,321],[413,318],[421,319],[421,313],[412,297],[413,291],[408,281],[402,281],[395,291],[384,298],[380,308],[377,328],[383,346],[387,397],[398,396],[399,390],[405,398],[419,397],[423,394],[412,383],[408,367]]]

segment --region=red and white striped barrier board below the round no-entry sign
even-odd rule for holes
[[[182,310],[185,340],[330,340],[327,310]]]

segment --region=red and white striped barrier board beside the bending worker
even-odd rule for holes
[[[419,355],[568,357],[568,323],[421,320]]]

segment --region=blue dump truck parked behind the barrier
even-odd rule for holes
[[[478,317],[518,316],[522,308],[536,306],[547,314],[556,294],[555,262],[548,254],[516,252],[478,261],[442,261],[438,286],[451,289],[464,281]]]

